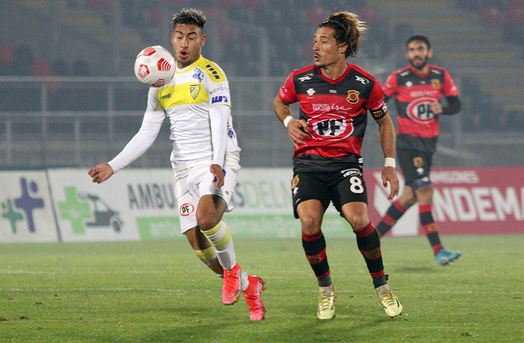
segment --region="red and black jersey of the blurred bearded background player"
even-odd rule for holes
[[[439,136],[439,121],[429,104],[444,96],[457,96],[459,90],[450,74],[429,65],[419,74],[411,65],[389,75],[382,87],[384,94],[395,97],[398,110],[397,148],[434,152]]]

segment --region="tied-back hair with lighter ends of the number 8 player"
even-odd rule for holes
[[[347,43],[346,58],[355,57],[358,43],[364,38],[362,32],[366,30],[364,21],[350,12],[336,12],[329,16],[328,21],[319,24],[319,27],[330,27],[335,30],[333,34],[339,44]]]

